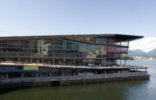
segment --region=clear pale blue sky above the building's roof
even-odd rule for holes
[[[1,36],[92,33],[155,38],[156,0],[0,0]]]

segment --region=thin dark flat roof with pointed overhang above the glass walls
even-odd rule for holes
[[[36,35],[36,36],[8,36],[0,37],[0,40],[27,40],[27,39],[50,39],[66,37],[109,37],[118,41],[131,41],[143,38],[143,36],[125,35],[125,34],[72,34],[72,35]]]

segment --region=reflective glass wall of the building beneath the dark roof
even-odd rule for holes
[[[114,64],[116,59],[120,59],[122,54],[127,53],[128,42],[120,43],[125,46],[116,45],[116,43],[118,42],[106,37],[5,40],[0,41],[0,56],[16,57],[21,61],[26,59],[28,62],[39,60],[39,62],[65,65],[87,65],[89,63],[108,65],[108,63]]]

